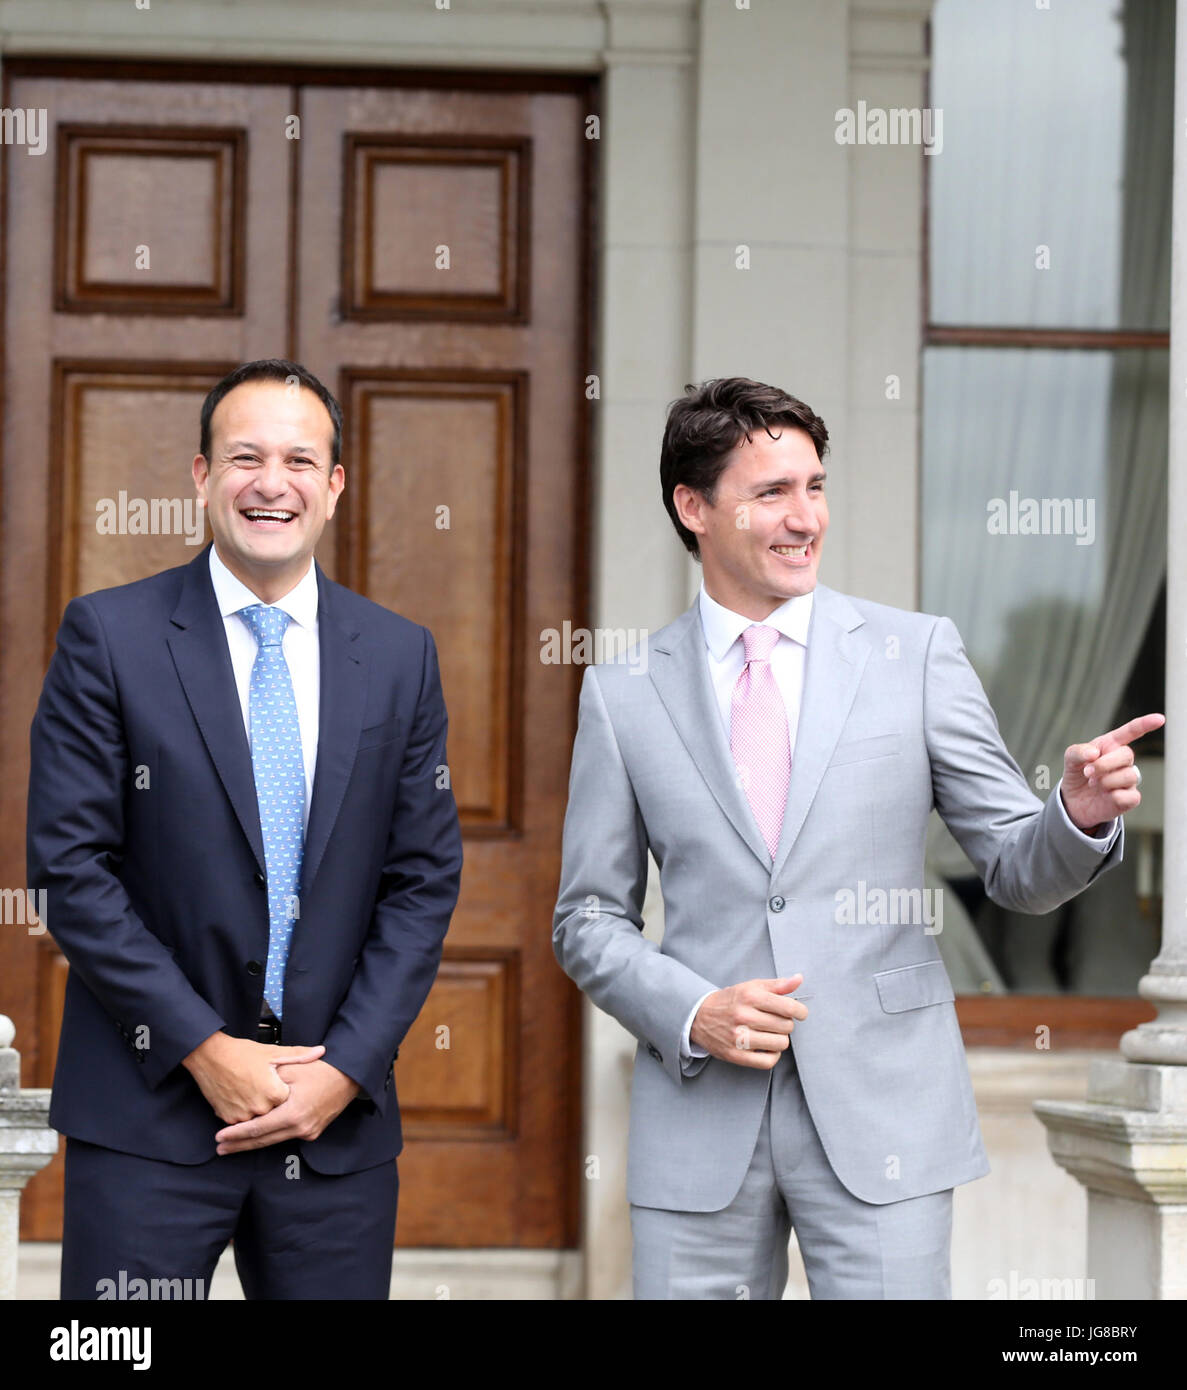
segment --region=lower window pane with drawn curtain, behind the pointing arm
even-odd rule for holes
[[[1165,350],[924,353],[922,607],[955,621],[1040,799],[1069,742],[1113,727],[1159,599],[1168,370]],[[1158,951],[1156,838],[1127,827],[1120,867],[1033,917],[988,902],[937,827],[956,988],[1131,994]]]

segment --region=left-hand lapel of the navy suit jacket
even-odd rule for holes
[[[171,621],[178,628],[168,638],[178,680],[263,873],[264,840],[260,834],[260,810],[256,803],[256,781],[252,776],[252,749],[243,728],[239,694],[235,689],[227,628],[210,581],[208,545],[186,567],[181,598]]]

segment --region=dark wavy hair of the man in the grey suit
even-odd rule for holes
[[[712,505],[730,450],[742,439],[749,443],[760,428],[777,439],[778,430],[773,425],[803,430],[816,445],[817,459],[823,460],[828,452],[828,431],[810,406],[778,386],[748,377],[716,377],[699,386],[688,385],[669,407],[659,450],[663,505],[677,535],[698,560],[701,545],[680,520],[673,500],[677,485],[682,482]]]

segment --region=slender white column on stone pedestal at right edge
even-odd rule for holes
[[[1102,1058],[1084,1102],[1035,1102],[1055,1162],[1088,1191],[1097,1298],[1187,1298],[1187,24],[1176,25],[1166,548],[1162,949],[1138,984],[1158,1016]],[[1137,539],[1133,543],[1140,543]],[[1138,745],[1138,762],[1141,751]]]

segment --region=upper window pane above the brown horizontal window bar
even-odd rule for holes
[[[1173,0],[937,0],[935,324],[1169,324]]]

